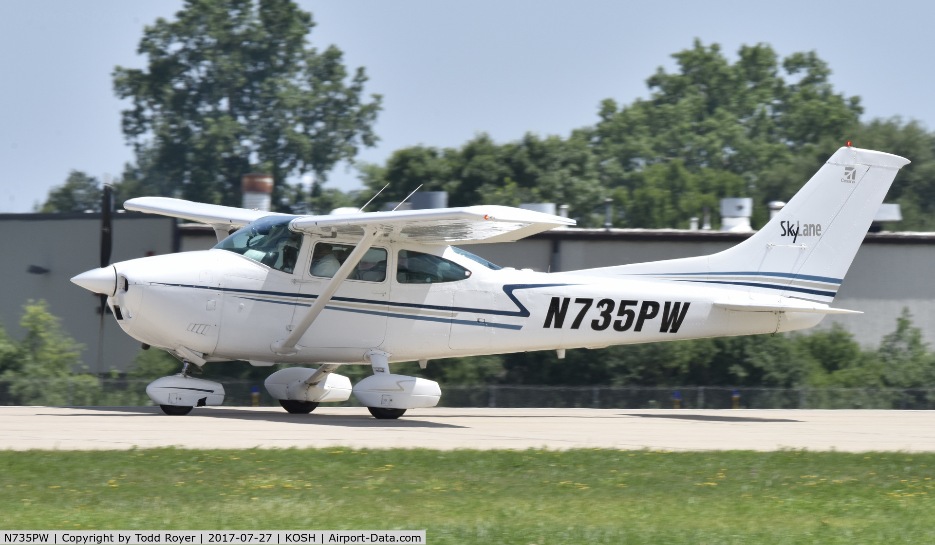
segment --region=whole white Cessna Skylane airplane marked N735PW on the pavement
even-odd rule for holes
[[[190,365],[247,360],[317,365],[266,380],[289,412],[354,394],[375,417],[393,419],[434,407],[441,395],[433,380],[392,374],[394,362],[776,333],[855,312],[827,303],[908,163],[844,147],[776,217],[729,250],[551,274],[500,268],[450,246],[574,224],[525,209],[295,216],[140,197],[124,208],[209,223],[220,242],[72,281],[108,295],[128,335],[183,362],[179,374],[147,387],[167,414],[223,401],[223,386],[191,377]],[[370,365],[374,374],[352,387],[333,372],[349,364]]]

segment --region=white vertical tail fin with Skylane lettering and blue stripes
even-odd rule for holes
[[[708,256],[577,271],[717,284],[755,294],[830,302],[909,160],[841,148],[753,237]]]

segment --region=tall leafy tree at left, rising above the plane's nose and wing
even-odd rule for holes
[[[335,46],[307,36],[311,14],[291,0],[187,0],[174,21],[147,26],[145,70],[114,71],[131,99],[123,134],[137,152],[130,177],[155,194],[239,204],[239,179],[273,175],[279,202],[287,176],[324,181],[359,146],[373,146],[380,95],[363,101],[367,76],[350,81]]]

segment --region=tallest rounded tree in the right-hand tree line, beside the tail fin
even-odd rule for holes
[[[646,80],[648,100],[623,107],[605,100],[600,121],[585,129],[604,182],[636,193],[647,180],[643,171],[673,161],[691,173],[732,173],[746,182],[746,190],[737,187],[737,179],[725,178],[712,194],[754,196],[759,223],[768,217],[768,201],[795,194],[855,129],[860,99],[834,93],[830,70],[814,51],[780,63],[769,45],[757,44],[742,46],[738,56],[731,64],[717,44],[706,47],[696,39],[692,49],[672,55],[678,72],[660,67]],[[627,219],[640,216],[640,199],[627,205],[621,195],[618,201]],[[683,226],[684,216],[670,215],[657,224],[656,214],[650,224],[638,220],[626,226]]]

